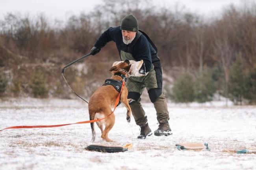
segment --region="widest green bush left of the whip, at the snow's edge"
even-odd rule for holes
[[[31,77],[30,88],[34,97],[47,97],[46,78],[43,72],[35,71]]]

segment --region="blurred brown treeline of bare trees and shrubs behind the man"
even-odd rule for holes
[[[82,4],[81,4],[82,5]],[[256,4],[232,5],[204,18],[176,8],[156,8],[147,0],[106,0],[91,13],[67,22],[7,13],[0,20],[0,96],[74,97],[63,66],[89,53],[111,26],[134,14],[139,29],[158,47],[164,88],[176,102],[228,97],[235,104],[256,102]],[[66,69],[77,93],[89,98],[120,60],[113,42],[100,53]]]

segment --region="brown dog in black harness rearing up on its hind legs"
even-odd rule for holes
[[[122,82],[123,80],[123,78],[121,77],[122,75],[123,77],[125,76],[127,78],[128,73],[130,71],[130,67],[131,67],[131,65],[129,64],[130,64],[129,60],[125,60],[124,62],[117,64],[117,66],[113,66],[109,70],[109,71],[112,71],[112,73],[114,73],[111,79],[121,80]],[[93,95],[89,100],[88,107],[89,107],[90,120],[101,119],[110,115],[112,113],[111,108],[114,107],[118,94],[119,92],[112,85],[101,86],[100,88],[98,88],[93,93]],[[128,104],[127,96],[128,96],[128,90],[126,86],[124,86],[121,92],[120,101],[124,104],[124,106],[127,109],[126,120],[130,122],[131,108],[130,108],[130,105]],[[101,130],[101,133],[102,133],[101,137],[103,140],[112,142],[112,140],[108,138],[108,132],[114,126],[114,123],[115,123],[115,115],[113,113],[108,118],[96,122],[96,124]],[[104,125],[105,125],[105,128],[103,130]],[[95,141],[94,123],[91,123],[91,131],[93,133],[92,141]]]

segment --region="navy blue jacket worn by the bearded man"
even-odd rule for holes
[[[130,44],[126,45],[122,41],[122,30],[120,29],[120,26],[110,27],[104,33],[102,33],[102,35],[95,42],[94,46],[100,49],[104,47],[109,41],[115,42],[119,51],[119,55],[121,55],[121,50],[127,53],[131,53],[132,57],[136,61],[143,60],[145,63],[146,72],[150,71],[152,64],[151,55],[156,54],[156,50],[151,46],[144,35],[141,35],[135,44],[129,49]]]

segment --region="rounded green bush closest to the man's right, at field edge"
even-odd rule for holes
[[[188,73],[182,73],[174,82],[171,95],[174,102],[193,102],[194,88],[193,77]]]

